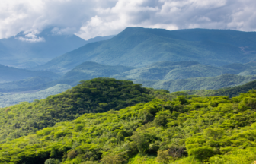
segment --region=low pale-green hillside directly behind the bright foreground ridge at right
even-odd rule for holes
[[[210,90],[223,87],[234,87],[256,80],[256,76],[239,76],[235,74],[222,74],[217,77],[197,77],[179,80],[133,80],[143,87],[169,90],[176,92],[180,90]]]

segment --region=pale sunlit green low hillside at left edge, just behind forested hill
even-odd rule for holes
[[[12,106],[21,102],[33,102],[34,99],[45,99],[47,96],[62,93],[72,86],[67,84],[58,84],[54,87],[40,90],[37,92],[24,93],[0,93],[0,107]]]

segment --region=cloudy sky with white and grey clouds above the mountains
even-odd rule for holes
[[[0,5],[0,39],[24,31],[40,42],[41,30],[90,39],[126,27],[256,31],[255,0],[8,0]]]

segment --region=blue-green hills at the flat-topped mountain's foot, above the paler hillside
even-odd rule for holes
[[[248,69],[251,67],[248,66]],[[136,68],[130,71],[116,74],[112,77],[117,79],[142,79],[142,80],[177,80],[193,77],[215,77],[221,74],[237,74],[232,68],[213,67],[201,65],[196,61],[160,61],[143,68]]]

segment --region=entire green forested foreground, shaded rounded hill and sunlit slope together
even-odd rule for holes
[[[97,78],[0,111],[0,163],[256,160],[255,90],[200,97]]]

